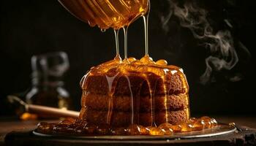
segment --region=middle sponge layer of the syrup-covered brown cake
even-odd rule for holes
[[[180,93],[170,96],[154,96],[154,103],[150,96],[104,96],[101,94],[88,93],[82,99],[82,106],[86,106],[92,110],[105,110],[110,108],[110,102],[113,102],[113,110],[121,112],[131,112],[132,108],[139,112],[151,112],[154,106],[154,111],[165,110],[184,110],[188,108],[188,95]],[[166,101],[166,103],[165,103]]]

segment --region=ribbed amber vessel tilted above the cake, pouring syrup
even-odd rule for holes
[[[59,0],[75,17],[99,28],[122,28],[148,12],[149,0]]]

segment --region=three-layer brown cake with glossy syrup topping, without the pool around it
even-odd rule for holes
[[[80,82],[80,120],[96,126],[177,125],[189,119],[189,87],[181,68],[129,58],[92,68]]]

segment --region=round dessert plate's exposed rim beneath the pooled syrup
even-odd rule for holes
[[[56,138],[69,138],[69,139],[109,139],[109,140],[143,140],[143,139],[193,139],[193,138],[203,138],[203,137],[216,137],[225,134],[233,134],[237,132],[238,128],[236,126],[230,126],[224,123],[220,123],[214,128],[206,128],[202,131],[191,131],[175,133],[170,136],[150,136],[150,135],[136,135],[136,136],[81,136],[74,134],[42,134],[35,129],[33,134],[38,137],[56,137]]]

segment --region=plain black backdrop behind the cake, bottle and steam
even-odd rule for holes
[[[180,26],[176,17],[165,32],[161,16],[167,15],[165,0],[151,0],[149,52],[154,60],[165,58],[181,66],[189,82],[190,107],[193,114],[255,115],[255,7],[249,1],[197,1],[208,10],[213,27],[225,29],[223,20],[233,24],[230,31],[235,44],[241,41],[251,57],[237,50],[239,62],[230,71],[213,72],[211,82],[202,85],[200,75],[206,69],[208,50],[199,45],[191,31]],[[0,115],[8,115],[5,99],[11,93],[26,93],[31,87],[31,56],[63,50],[69,55],[70,68],[65,87],[75,110],[80,109],[79,82],[83,74],[113,58],[113,31],[105,33],[91,28],[67,12],[56,0],[0,2]],[[122,33],[121,33],[122,36]],[[122,37],[121,37],[122,38]],[[122,41],[120,42],[122,46]],[[129,28],[129,56],[144,54],[143,23],[137,20]],[[123,47],[121,47],[122,49]],[[240,77],[238,82],[230,77]]]

